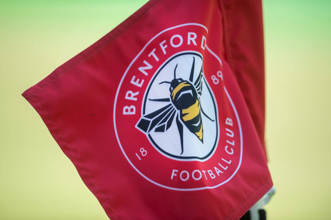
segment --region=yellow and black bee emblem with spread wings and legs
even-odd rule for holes
[[[177,63],[173,71],[173,80],[171,82],[165,81],[159,83],[170,84],[170,98],[149,99],[151,101],[170,103],[159,110],[143,115],[137,124],[137,127],[143,130],[146,134],[148,134],[153,128],[155,128],[155,132],[165,132],[170,128],[173,119],[176,118],[181,142],[181,154],[183,154],[183,124],[203,143],[204,130],[201,113],[203,113],[209,120],[214,121],[205,114],[201,107],[202,66],[198,78],[193,83],[194,63],[195,58],[193,57],[190,78],[188,81],[183,80],[182,78],[176,79]]]

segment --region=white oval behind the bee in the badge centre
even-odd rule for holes
[[[187,54],[187,53],[192,53],[192,54]],[[201,66],[203,65],[202,58],[197,54],[201,56],[200,53],[194,51],[183,51],[180,52],[179,54],[171,56],[168,59],[170,61],[168,62],[167,60],[165,62],[166,65],[164,63],[160,66],[160,68],[162,67],[163,68],[161,69],[160,72],[159,70],[156,71],[155,76],[153,76],[153,79],[151,80],[151,82],[153,83],[148,86],[148,88],[150,88],[148,90],[148,94],[145,94],[145,97],[147,96],[147,98],[145,99],[146,103],[143,104],[145,105],[145,114],[152,113],[169,104],[169,102],[156,102],[156,101],[150,101],[149,99],[170,98],[170,91],[169,91],[170,85],[166,83],[163,84],[159,84],[159,83],[164,81],[171,82],[171,80],[173,80],[174,78],[173,71],[176,64],[178,64],[176,69],[176,78],[177,79],[182,78],[183,80],[189,81],[191,67],[193,63],[193,57],[194,57],[195,65],[194,65],[193,83],[196,81],[196,79],[199,76]],[[214,105],[214,102],[216,100],[214,99],[213,102],[213,94],[211,94],[212,90],[210,88],[209,89],[207,88],[209,87],[209,85],[207,85],[206,82],[207,81],[204,78],[202,78],[201,81],[202,94],[200,96],[200,100],[201,100],[200,104],[204,112],[214,121],[209,120],[201,112],[204,143],[202,143],[195,134],[189,131],[189,129],[185,126],[185,124],[182,121],[180,121],[183,125],[183,145],[184,145],[183,154],[180,155],[181,153],[180,136],[174,118],[171,127],[165,132],[155,132],[154,129],[150,132],[151,138],[154,140],[154,142],[158,145],[159,148],[161,148],[167,154],[160,151],[157,146],[155,146],[152,142],[151,143],[163,155],[175,160],[178,158],[173,157],[172,155],[181,157],[181,159],[184,160],[185,157],[187,157],[187,159],[192,159],[192,157],[196,157],[197,159],[206,159],[206,156],[211,155],[212,153],[211,151],[215,150],[216,148],[215,146],[218,138],[217,118],[216,118],[217,105]],[[178,110],[176,110],[176,112],[179,113]]]

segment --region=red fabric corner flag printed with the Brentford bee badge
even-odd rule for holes
[[[231,3],[231,7],[229,4],[149,1],[106,36],[23,93],[111,219],[239,219],[271,188],[261,145],[264,79],[260,3],[238,1],[235,5]],[[246,6],[249,6],[247,12],[241,10]],[[188,32],[196,33],[197,45],[192,41],[188,44]],[[183,39],[182,43],[178,36],[173,39],[172,43],[178,47],[170,44],[174,35]],[[166,54],[160,46],[164,40]],[[150,55],[154,48],[158,60]],[[184,52],[189,64],[179,59]],[[179,58],[175,59],[177,54]],[[160,82],[157,77],[168,76],[167,72],[158,75],[160,68],[166,66],[173,77],[171,65],[177,63],[178,78],[186,74],[184,65],[194,66],[193,57],[196,72],[203,64],[206,81],[201,83],[204,87],[198,96],[199,104],[205,110],[207,107],[211,119],[199,110],[204,125],[203,144],[198,135],[190,132],[191,125],[182,118],[178,118],[177,125],[173,120],[168,132],[182,125],[184,134],[191,135],[184,137],[184,151],[176,158],[167,155],[170,150],[164,153],[156,145],[161,146],[162,140],[177,140],[180,132],[165,139],[166,132],[151,131],[155,135],[152,137],[159,141],[155,144],[137,126],[145,114],[144,97],[155,96],[149,87],[166,88],[160,89],[163,97],[156,98],[170,98],[174,91],[171,87],[169,91],[168,83],[153,84],[154,79]],[[173,63],[166,64],[171,58]],[[146,66],[144,61],[152,66],[145,69],[146,74],[139,70]],[[136,83],[132,83],[133,76]],[[192,80],[183,80],[193,85]],[[139,83],[141,87],[134,85]],[[136,100],[125,98],[127,91],[138,92],[133,96]],[[152,109],[159,103],[146,100]],[[135,114],[124,114],[125,106],[131,105]],[[210,106],[216,106],[217,110]],[[178,114],[181,112],[173,109]],[[208,125],[215,125],[215,129]],[[208,141],[214,141],[212,135],[208,136],[214,131],[216,147],[202,159],[204,147]],[[202,146],[200,159],[181,158],[191,152],[189,141],[192,146]],[[174,146],[180,149],[180,143],[177,141]],[[222,172],[216,173],[214,167]],[[181,176],[183,170],[189,174],[187,180],[187,173]],[[194,170],[199,171],[195,175],[198,180],[192,176]]]

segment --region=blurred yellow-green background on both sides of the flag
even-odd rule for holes
[[[0,1],[0,219],[108,217],[21,96],[146,0]],[[331,1],[264,0],[268,219],[331,219]]]

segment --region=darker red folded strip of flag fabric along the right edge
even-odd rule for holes
[[[264,152],[264,41],[261,1],[224,0],[225,47]]]

